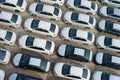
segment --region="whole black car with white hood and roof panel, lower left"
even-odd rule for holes
[[[13,58],[13,65],[15,67],[30,69],[34,71],[48,72],[51,63],[50,61],[40,57],[17,53]]]

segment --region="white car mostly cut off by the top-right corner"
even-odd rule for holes
[[[120,0],[100,0],[103,5],[110,5],[120,8]]]

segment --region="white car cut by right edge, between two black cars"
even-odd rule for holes
[[[96,45],[98,48],[120,52],[120,40],[107,36],[98,36]]]

